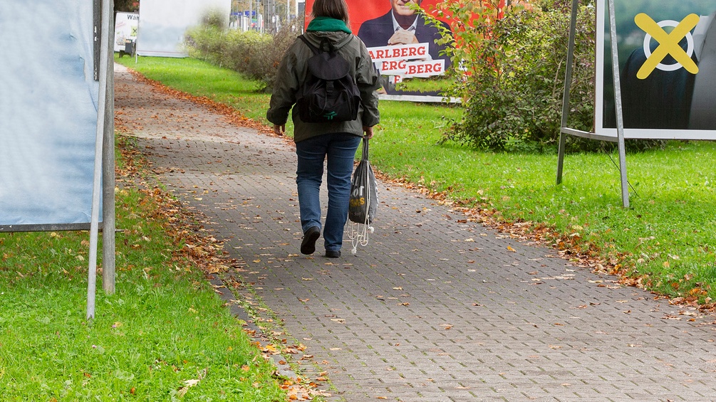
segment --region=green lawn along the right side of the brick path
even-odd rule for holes
[[[195,59],[121,62],[268,124],[269,94],[256,92],[258,85],[235,72]],[[634,190],[631,207],[625,209],[619,170],[612,162],[616,155],[567,155],[558,186],[556,155],[441,144],[443,117],[458,117],[459,107],[381,102],[380,111],[371,157],[388,177],[445,192],[496,225],[519,222],[556,247],[600,258],[604,270],[638,278],[663,295],[701,303],[716,298],[714,142],[674,141],[664,150],[629,153],[627,173]]]

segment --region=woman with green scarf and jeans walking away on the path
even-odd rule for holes
[[[323,225],[326,257],[341,255],[343,230],[348,216],[348,199],[353,161],[361,137],[373,135],[379,122],[378,73],[373,67],[366,46],[348,27],[348,6],[345,0],[316,0],[312,19],[303,35],[315,48],[337,49],[337,54],[349,62],[350,75],[360,92],[357,119],[344,122],[304,122],[294,107],[294,142],[298,167],[296,185],[299,191],[301,253],[313,254],[321,235],[321,202],[319,190],[326,161],[328,210]],[[283,135],[289,110],[296,103],[296,95],[309,78],[308,59],[314,51],[301,39],[289,47],[279,65],[274,91],[271,94],[266,118],[274,124],[274,132]]]

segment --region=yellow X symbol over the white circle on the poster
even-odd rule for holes
[[[637,72],[637,78],[645,79],[649,77],[649,74],[652,74],[664,57],[667,57],[669,54],[671,54],[674,60],[679,62],[687,72],[692,74],[699,72],[699,67],[696,66],[696,63],[684,52],[684,49],[679,46],[679,41],[684,39],[684,37],[694,29],[696,24],[699,23],[699,19],[699,16],[696,14],[689,14],[679,22],[670,34],[667,34],[652,17],[644,13],[637,14],[637,16],[634,17],[634,22],[637,23],[637,26],[659,42],[657,49],[654,50],[652,55],[644,62],[642,68],[639,69],[639,72]]]

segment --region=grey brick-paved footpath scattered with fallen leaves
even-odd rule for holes
[[[329,401],[716,401],[714,317],[384,183],[368,247],[306,258],[289,142],[121,67],[115,80],[117,119],[228,240],[235,275],[253,284],[235,291],[263,300],[289,343],[307,346],[309,377],[328,373]]]

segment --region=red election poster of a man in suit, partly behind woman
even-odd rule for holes
[[[442,99],[434,86],[421,89],[400,85],[405,79],[440,76],[450,67],[450,59],[442,52],[448,45],[436,43],[441,37],[437,27],[415,10],[416,4],[430,10],[436,3],[437,0],[347,0],[350,29],[365,43],[382,76],[382,99]],[[313,4],[314,0],[306,0],[306,25]]]

